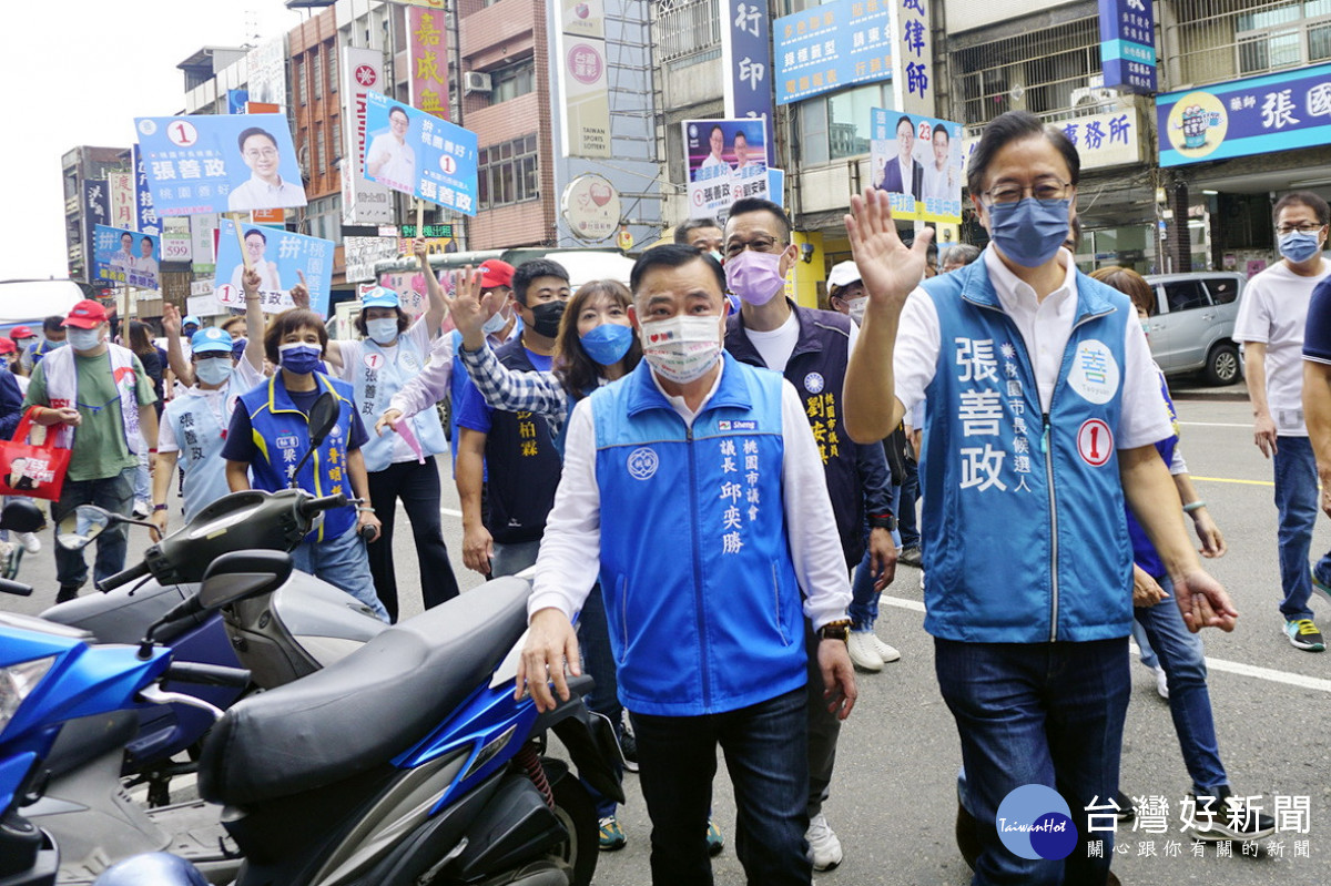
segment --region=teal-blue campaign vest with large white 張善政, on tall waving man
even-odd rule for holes
[[[1047,419],[985,263],[924,282],[941,327],[925,390],[925,629],[974,643],[1127,636],[1131,547],[1114,436],[1127,297],[1077,274]]]

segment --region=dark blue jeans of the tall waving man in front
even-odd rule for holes
[[[972,883],[1105,882],[1111,830],[1090,831],[1085,809],[1118,790],[1131,682],[1127,639],[1094,643],[957,643],[934,639],[934,668],[957,721],[966,802],[982,846]],[[998,805],[1022,785],[1061,793],[1082,845],[1062,861],[1025,859],[1004,847]],[[1102,839],[1102,858],[1086,842]]]

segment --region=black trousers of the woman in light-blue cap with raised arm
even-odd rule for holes
[[[398,499],[406,508],[411,521],[411,535],[415,537],[417,561],[421,565],[421,596],[425,608],[437,607],[458,596],[458,579],[449,563],[449,548],[443,543],[443,527],[439,521],[439,468],[434,456],[425,464],[398,462],[382,471],[369,474],[370,504],[375,516],[383,524],[378,541],[369,545],[370,575],[374,576],[374,591],[389,611],[393,621],[398,620],[398,580],[393,569],[393,524],[397,516]]]

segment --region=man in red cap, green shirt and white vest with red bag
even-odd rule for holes
[[[72,450],[60,500],[52,507],[59,523],[80,504],[96,504],[129,516],[138,470],[140,431],[150,467],[157,460],[157,411],[152,379],[133,351],[106,341],[106,310],[81,301],[65,318],[69,347],[45,355],[32,372],[24,408],[40,406],[39,424],[56,427],[56,442]],[[97,536],[93,569],[100,581],[125,568],[126,527],[109,527]],[[73,600],[88,580],[83,551],[56,549],[56,603]]]

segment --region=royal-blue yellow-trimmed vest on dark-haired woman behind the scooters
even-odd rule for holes
[[[346,442],[351,435],[351,386],[331,379],[319,372],[314,380],[321,391],[333,391],[341,400],[337,426],[319,446],[318,452],[305,462],[298,476],[302,490],[314,495],[353,495],[350,478],[346,475]],[[241,394],[241,403],[250,416],[254,431],[254,447],[258,458],[250,463],[250,476],[254,488],[276,492],[285,490],[289,474],[310,448],[310,424],[305,412],[295,408],[290,394],[282,383],[282,372],[274,372],[258,387]],[[347,506],[323,512],[323,525],[305,536],[306,541],[337,539],[355,523],[355,508]]]

